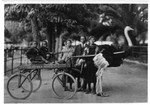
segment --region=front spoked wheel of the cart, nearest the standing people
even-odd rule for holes
[[[75,95],[77,85],[73,76],[59,73],[52,81],[52,89],[59,98],[70,99]]]

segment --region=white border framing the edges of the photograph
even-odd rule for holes
[[[4,104],[4,4],[7,4],[7,3],[10,3],[10,4],[15,4],[15,3],[27,3],[27,4],[32,4],[32,3],[36,3],[36,4],[39,4],[39,3],[43,3],[43,4],[48,4],[48,3],[58,3],[58,4],[63,4],[63,3],[75,3],[75,4],[83,4],[83,3],[91,3],[91,4],[104,4],[104,3],[108,3],[108,4],[123,4],[123,3],[134,3],[134,4],[137,4],[137,3],[141,3],[141,4],[144,4],[144,3],[150,3],[149,0],[2,0],[1,1],[1,4],[0,4],[0,32],[1,32],[1,43],[0,43],[0,49],[1,49],[1,53],[0,53],[0,59],[1,59],[1,63],[0,63],[0,79],[1,79],[1,89],[0,89],[0,94],[1,94],[1,98],[0,98],[0,103]],[[149,9],[150,7],[148,7]],[[148,14],[150,14],[150,11],[148,11]],[[148,20],[150,18],[148,17]],[[148,23],[148,26],[149,26],[149,23]],[[148,35],[150,35],[149,33],[149,27],[148,27]],[[150,46],[148,45],[148,52],[149,52],[149,49],[150,49]],[[148,53],[149,55],[149,53]],[[148,61],[149,61],[149,56],[148,56]],[[148,62],[148,65],[149,62]],[[148,70],[149,70],[149,67],[148,67]],[[150,71],[148,72],[148,87],[149,87],[149,84],[150,84]],[[149,103],[149,97],[150,97],[150,91],[149,91],[149,88],[148,88],[148,103]],[[136,105],[139,104],[148,104],[148,103],[135,103]],[[105,103],[97,103],[97,104],[105,104]],[[115,103],[115,104],[120,104],[120,103]],[[126,103],[121,103],[121,104],[126,104]],[[130,103],[127,103],[127,104],[130,104]],[[133,103],[132,103],[133,104]]]

